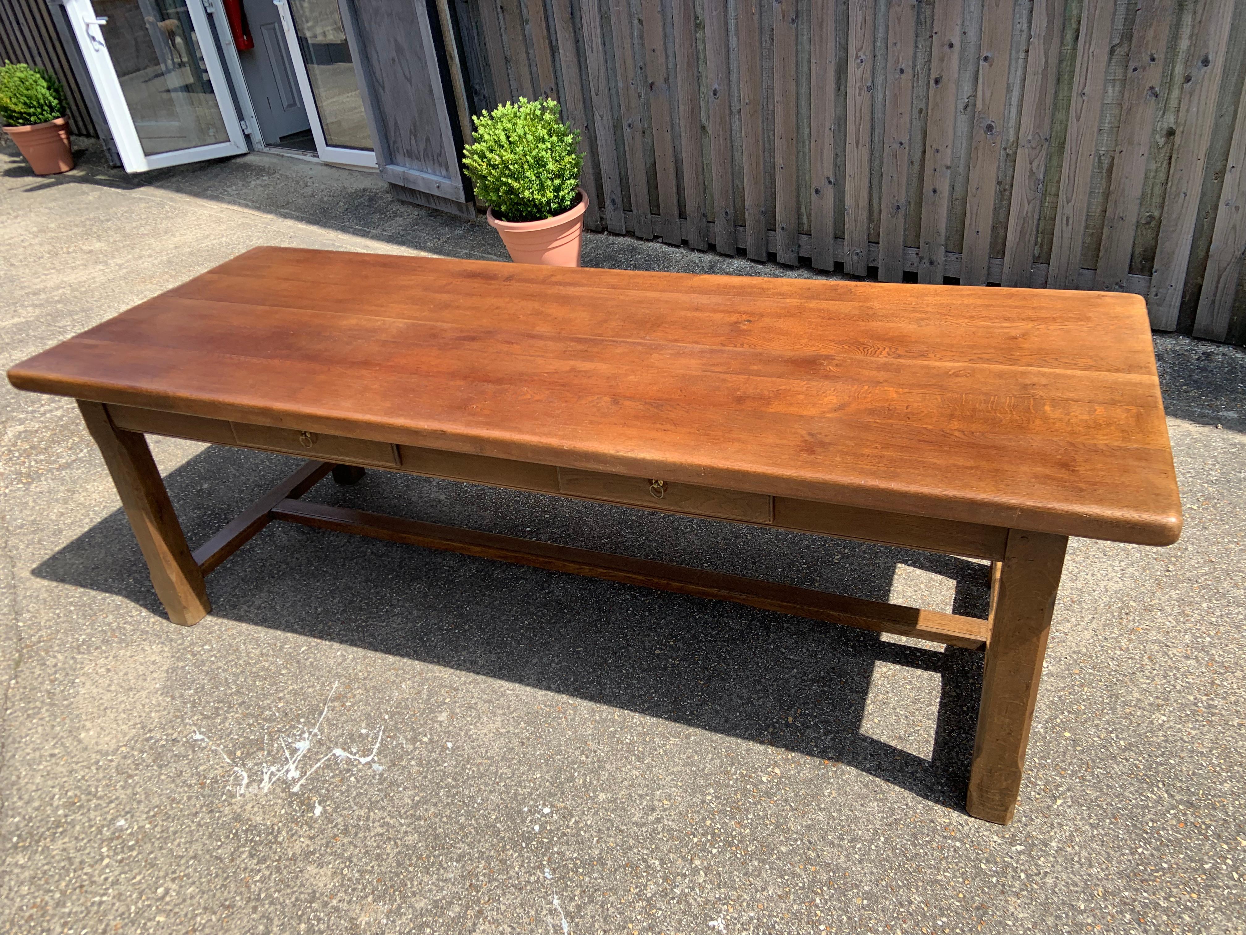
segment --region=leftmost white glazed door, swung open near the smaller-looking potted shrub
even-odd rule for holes
[[[247,152],[203,0],[65,0],[127,172]]]

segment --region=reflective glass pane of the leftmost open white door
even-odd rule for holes
[[[229,141],[184,0],[93,0],[147,156]]]

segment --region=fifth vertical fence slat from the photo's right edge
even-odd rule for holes
[[[1034,0],[1029,26],[1029,59],[1020,108],[1017,165],[1004,248],[1003,285],[1029,285],[1038,219],[1043,211],[1047,145],[1052,138],[1052,102],[1064,29],[1064,0]]]

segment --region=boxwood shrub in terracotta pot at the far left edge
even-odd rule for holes
[[[0,123],[36,176],[74,168],[65,91],[50,71],[10,62],[0,66]]]

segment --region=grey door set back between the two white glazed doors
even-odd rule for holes
[[[247,91],[259,121],[259,132],[269,146],[282,137],[310,131],[303,94],[290,62],[280,12],[273,0],[243,0],[255,47],[238,52]]]

